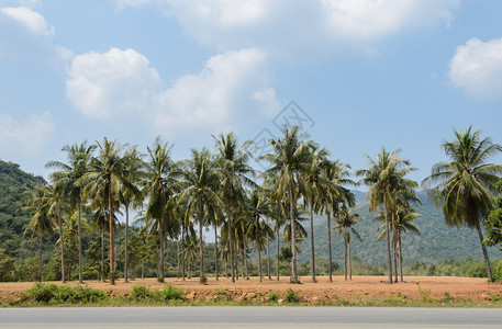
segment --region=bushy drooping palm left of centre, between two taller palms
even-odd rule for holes
[[[201,151],[192,149],[192,157],[181,163],[182,182],[179,186],[179,202],[186,203],[185,218],[196,218],[199,222],[201,283],[205,283],[204,274],[204,242],[202,228],[217,216],[222,201],[217,195],[221,175],[215,170],[211,154],[205,148]]]

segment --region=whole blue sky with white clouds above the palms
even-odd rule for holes
[[[0,0],[0,159],[35,174],[65,144],[241,140],[294,101],[311,138],[420,171],[473,125],[502,143],[502,1]],[[501,159],[494,159],[500,161]]]

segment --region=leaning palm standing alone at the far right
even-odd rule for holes
[[[442,207],[446,224],[457,227],[466,225],[478,230],[488,276],[493,282],[480,222],[488,218],[495,207],[493,194],[497,193],[502,166],[487,162],[502,151],[502,146],[493,144],[488,137],[481,138],[481,132],[471,132],[471,128],[466,132],[454,131],[455,137],[442,144],[449,162],[434,164],[431,175],[422,184],[437,183],[431,196],[436,206]]]

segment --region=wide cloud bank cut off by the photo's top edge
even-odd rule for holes
[[[382,37],[451,20],[460,0],[115,0],[156,3],[202,43],[298,56],[368,47]]]

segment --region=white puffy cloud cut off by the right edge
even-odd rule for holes
[[[502,99],[502,38],[469,39],[449,63],[449,79],[478,100]]]

